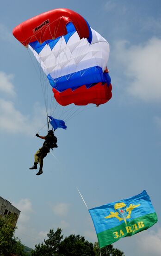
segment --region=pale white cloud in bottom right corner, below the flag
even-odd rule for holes
[[[161,255],[161,228],[142,233],[138,240],[138,251],[142,256],[160,256]]]

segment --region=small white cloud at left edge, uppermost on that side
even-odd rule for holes
[[[0,71],[0,91],[6,94],[15,96],[14,86],[12,80],[14,78],[13,74],[6,74],[3,71]]]

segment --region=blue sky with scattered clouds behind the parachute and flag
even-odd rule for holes
[[[146,190],[158,223],[114,247],[125,255],[161,251],[161,1],[2,1],[0,4],[0,196],[21,214],[16,235],[34,248],[51,228],[97,241],[88,208]],[[56,131],[43,175],[29,170],[43,141],[43,93],[30,55],[12,29],[55,8],[80,13],[110,43],[112,99]],[[42,129],[40,135],[46,134]]]

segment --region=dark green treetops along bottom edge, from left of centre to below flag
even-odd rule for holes
[[[93,245],[80,235],[70,235],[62,240],[61,233],[60,228],[56,232],[50,229],[48,239],[35,245],[35,249],[31,250],[31,256],[100,256],[98,243]],[[124,253],[108,245],[101,249],[101,256],[124,256]]]

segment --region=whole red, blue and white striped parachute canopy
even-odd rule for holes
[[[51,10],[19,24],[13,35],[33,52],[59,104],[99,105],[111,98],[109,43],[80,14]]]

